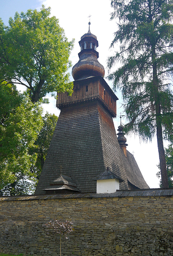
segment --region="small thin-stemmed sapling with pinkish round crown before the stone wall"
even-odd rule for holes
[[[60,234],[60,256],[61,256],[61,236],[65,236],[68,239],[67,234],[73,231],[73,223],[69,221],[53,220],[45,224],[48,231],[52,231],[56,234]]]

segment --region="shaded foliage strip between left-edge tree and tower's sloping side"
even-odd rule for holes
[[[14,176],[12,182],[1,189],[1,195],[22,195],[34,192],[58,117],[47,112],[45,116],[42,117],[42,120],[43,127],[41,128],[37,139],[35,140],[33,147],[28,148],[28,154],[30,156],[35,156],[34,161],[30,163],[30,171],[24,173],[18,169],[16,173],[13,173]]]

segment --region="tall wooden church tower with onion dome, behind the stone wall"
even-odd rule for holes
[[[57,95],[61,113],[35,194],[95,193],[97,180],[108,177],[120,189],[148,188],[140,171],[140,180],[128,174],[131,154],[124,155],[113,124],[118,98],[103,79],[90,23],[79,45],[79,61],[72,69],[74,92]]]

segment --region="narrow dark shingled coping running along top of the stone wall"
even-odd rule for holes
[[[103,198],[103,197],[128,197],[128,196],[172,196],[173,189],[144,189],[144,190],[117,190],[115,193],[74,193],[74,194],[50,194],[50,195],[21,195],[0,196],[0,201],[22,201],[22,200],[47,200],[67,198]]]

